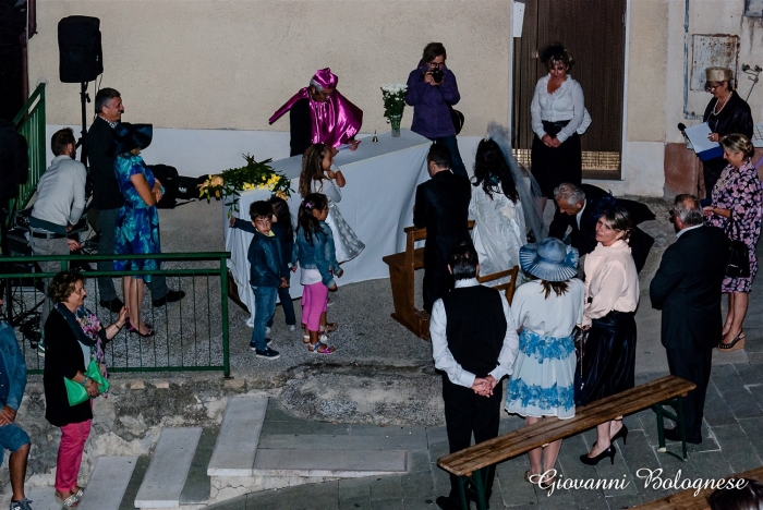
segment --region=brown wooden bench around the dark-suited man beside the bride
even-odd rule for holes
[[[474,221],[469,221],[469,229],[474,228]],[[392,303],[395,312],[392,318],[405,326],[420,338],[429,339],[429,314],[416,308],[414,299],[414,274],[416,269],[424,267],[424,248],[416,247],[416,241],[426,239],[426,229],[419,227],[407,227],[405,251],[387,255],[382,258],[389,266],[389,279],[392,284]],[[507,283],[496,286],[498,290],[506,290],[506,299],[511,304],[514,287],[517,286],[517,275],[519,266],[506,271],[496,272],[480,277],[480,282],[489,282],[500,278],[511,276]]]

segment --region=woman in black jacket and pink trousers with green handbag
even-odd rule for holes
[[[98,385],[85,372],[95,359],[106,375],[102,345],[124,326],[128,308],[122,307],[117,320],[101,326],[98,317],[85,308],[85,277],[80,272],[56,275],[48,289],[53,311],[45,323],[45,418],[61,428],[61,445],[56,462],[56,498],[64,508],[74,508],[83,495],[77,474],[85,441],[93,422],[93,402],[69,404],[63,378],[80,382],[90,399],[98,397]]]

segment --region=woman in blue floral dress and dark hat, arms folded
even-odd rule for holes
[[[117,216],[114,254],[160,253],[159,212],[156,203],[165,192],[150,169],[140,156],[141,149],[152,142],[150,124],[129,124],[123,122],[116,127],[113,154],[114,173],[122,192],[124,205]],[[114,260],[114,270],[156,270],[159,260]],[[144,284],[150,281],[150,275],[122,278],[124,302],[129,309],[130,332],[142,337],[152,337],[154,329],[141,318]]]

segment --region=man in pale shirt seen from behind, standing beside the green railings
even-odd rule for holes
[[[50,139],[56,156],[37,184],[37,201],[32,209],[31,246],[34,255],[69,255],[80,243],[68,239],[68,232],[85,210],[85,166],[76,161],[76,141],[70,127],[57,131]],[[44,272],[57,272],[60,262],[39,263]],[[46,282],[47,293],[47,282]],[[45,325],[52,304],[46,300],[40,326]]]

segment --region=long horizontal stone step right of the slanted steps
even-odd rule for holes
[[[408,470],[405,459],[405,451],[401,450],[259,449],[253,474],[354,478],[404,473]]]

